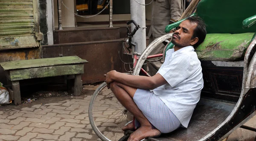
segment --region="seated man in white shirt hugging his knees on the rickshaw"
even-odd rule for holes
[[[171,41],[175,47],[166,52],[156,75],[135,76],[116,71],[105,75],[108,88],[136,118],[136,124],[130,123],[122,130],[136,129],[134,125],[140,124],[128,141],[188,127],[204,86],[201,63],[194,48],[205,37],[204,22],[200,17],[189,17],[174,32]]]

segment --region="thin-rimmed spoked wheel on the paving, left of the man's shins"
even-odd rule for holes
[[[124,135],[122,127],[128,122],[129,113],[105,83],[101,86],[91,99],[90,124],[103,141],[118,141]]]

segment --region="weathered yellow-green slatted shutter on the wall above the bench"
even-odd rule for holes
[[[39,46],[38,0],[0,0],[0,50]]]

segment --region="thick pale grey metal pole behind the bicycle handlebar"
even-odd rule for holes
[[[145,5],[145,0],[137,0],[137,2]],[[134,35],[132,42],[138,44],[137,52],[142,53],[146,48],[146,14],[145,6],[140,5],[135,0],[130,0],[131,7],[131,20],[135,20],[140,24],[140,29]],[[134,29],[134,25],[131,24],[131,30]]]

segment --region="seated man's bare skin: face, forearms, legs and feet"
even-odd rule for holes
[[[198,42],[198,37],[192,39],[197,23],[184,20],[177,27],[172,37],[172,43],[177,51],[186,46],[193,46]],[[158,129],[152,129],[150,122],[143,115],[140,109],[133,101],[137,89],[155,89],[167,83],[162,75],[157,73],[152,77],[127,75],[115,70],[108,72],[106,75],[108,88],[112,90],[120,103],[131,112],[132,115],[140,122],[141,127],[134,131],[128,141],[140,141],[144,138],[155,137],[161,134]],[[133,124],[130,123],[123,127],[122,130],[133,130]]]

